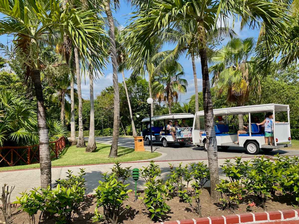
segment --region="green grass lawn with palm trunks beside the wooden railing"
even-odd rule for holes
[[[52,160],[52,167],[68,166],[68,165],[87,165],[98,163],[115,163],[115,162],[130,162],[144,159],[152,159],[161,156],[158,152],[135,152],[132,148],[118,147],[118,157],[108,158],[111,145],[97,143],[96,152],[87,153],[85,148],[76,148],[76,145],[66,146],[60,154],[59,159]],[[39,168],[39,163],[22,165],[22,166],[8,166],[0,167],[0,171],[5,170],[20,170],[29,168]]]

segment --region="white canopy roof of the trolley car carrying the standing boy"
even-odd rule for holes
[[[213,113],[215,116],[221,115],[230,115],[230,114],[246,114],[246,113],[262,113],[262,112],[279,112],[279,111],[288,111],[289,105],[283,104],[261,104],[261,105],[251,105],[251,106],[242,106],[242,107],[230,107],[230,108],[219,108],[214,109]],[[196,116],[204,116],[204,111],[198,111],[195,113]]]

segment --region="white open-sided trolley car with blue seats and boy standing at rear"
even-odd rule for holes
[[[288,122],[275,123],[275,112],[287,112]],[[265,134],[260,131],[255,123],[251,123],[251,114],[273,112],[273,133],[274,145],[265,144]],[[291,129],[290,129],[290,109],[289,105],[282,104],[263,104],[251,105],[232,108],[214,109],[215,116],[227,116],[233,114],[248,114],[248,133],[239,134],[239,144],[234,144],[237,141],[237,133],[231,133],[228,125],[215,125],[217,146],[228,149],[230,146],[245,148],[248,154],[258,154],[260,149],[269,152],[273,149],[284,148],[291,145]],[[227,119],[226,119],[227,120]],[[195,113],[193,121],[192,139],[193,144],[203,146],[206,149],[206,135],[200,135],[204,131],[204,111]]]

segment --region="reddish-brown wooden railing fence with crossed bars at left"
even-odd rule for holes
[[[65,137],[49,142],[51,159],[58,158],[65,148]],[[0,167],[39,163],[39,145],[0,147]],[[6,165],[7,164],[7,165]]]

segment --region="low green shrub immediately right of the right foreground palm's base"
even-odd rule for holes
[[[223,208],[231,211],[235,205],[239,205],[244,194],[239,181],[230,182],[222,179],[221,182],[216,185],[215,190],[221,194],[220,202],[222,202]]]

